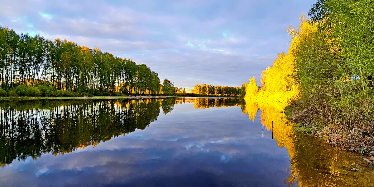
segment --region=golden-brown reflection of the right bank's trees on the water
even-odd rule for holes
[[[284,106],[279,103],[246,101],[243,113],[254,120],[258,108],[260,120],[271,130],[277,145],[288,150],[291,174],[285,180],[288,186],[374,186],[372,164],[356,153],[329,146],[326,142],[302,133],[295,133],[294,123],[286,119]],[[352,171],[352,168],[361,171]]]

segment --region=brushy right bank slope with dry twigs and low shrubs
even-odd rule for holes
[[[319,92],[293,101],[285,113],[298,124],[296,130],[363,155],[374,150],[373,94],[334,97]]]

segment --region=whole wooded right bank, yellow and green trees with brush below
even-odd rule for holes
[[[309,17],[309,18],[308,18]],[[374,147],[374,3],[319,0],[290,26],[288,53],[244,83],[245,99],[281,103],[298,129],[347,150]]]

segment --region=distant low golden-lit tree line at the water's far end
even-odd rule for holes
[[[200,95],[239,95],[242,87],[195,85],[194,92]]]

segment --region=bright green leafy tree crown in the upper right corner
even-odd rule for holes
[[[319,22],[318,31],[330,34],[329,43],[334,45],[341,59],[338,71],[343,76],[359,77],[361,89],[373,86],[374,75],[374,3],[371,0],[320,0],[309,12]],[[327,59],[325,59],[327,60]],[[330,60],[327,61],[327,63]],[[341,78],[341,76],[338,76]],[[366,91],[367,92],[367,91]]]

